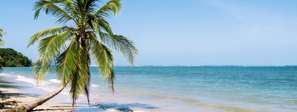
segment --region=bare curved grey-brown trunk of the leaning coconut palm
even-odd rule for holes
[[[65,85],[66,86],[66,85]],[[43,103],[45,103],[46,101],[48,101],[49,99],[53,98],[54,96],[56,96],[57,94],[59,94],[64,88],[64,85],[61,85],[60,88],[58,88],[57,90],[36,99],[35,101],[31,101],[29,103],[26,104],[22,104],[20,106],[17,107],[13,107],[11,109],[5,110],[4,112],[29,112],[31,110],[33,110],[33,108],[42,105]]]

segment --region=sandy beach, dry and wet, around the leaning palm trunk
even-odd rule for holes
[[[7,77],[5,77],[7,78]],[[11,82],[12,80],[5,80]],[[16,88],[0,88],[0,112],[19,106],[30,101],[34,101],[50,92],[43,90],[42,88],[35,88],[34,85],[27,82],[13,81],[12,85]],[[21,86],[22,85],[22,86]],[[68,95],[58,94],[44,104],[39,105],[33,109],[33,111],[48,112],[48,111],[60,111],[60,112],[80,112],[80,111],[100,111],[106,110],[97,107],[90,107],[88,104],[77,103],[72,107],[72,101],[67,100]]]

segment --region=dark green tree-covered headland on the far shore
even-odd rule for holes
[[[22,53],[11,48],[0,48],[0,66],[2,67],[24,67],[31,66],[32,60]]]

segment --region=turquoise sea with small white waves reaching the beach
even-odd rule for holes
[[[297,111],[297,66],[117,66],[115,94],[96,67],[90,71],[91,106],[107,110]],[[29,67],[4,68],[3,73],[34,83]],[[57,87],[54,73],[38,86]]]

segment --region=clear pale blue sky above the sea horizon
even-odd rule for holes
[[[5,48],[36,61],[28,39],[40,30],[63,26],[41,14],[34,0],[0,0]],[[103,3],[108,0],[102,0]],[[135,65],[297,65],[297,1],[123,0],[114,34],[133,40]],[[103,5],[98,3],[98,5]],[[116,65],[128,65],[115,53]]]

